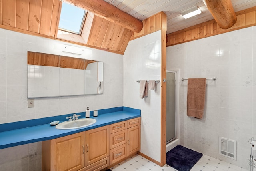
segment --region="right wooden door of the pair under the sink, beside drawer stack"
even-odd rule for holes
[[[85,166],[109,156],[109,125],[85,131]]]

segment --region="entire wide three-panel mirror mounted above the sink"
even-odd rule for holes
[[[103,62],[28,52],[28,98],[103,93]]]

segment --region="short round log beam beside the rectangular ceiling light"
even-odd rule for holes
[[[220,28],[228,29],[236,23],[236,14],[231,0],[204,0]]]

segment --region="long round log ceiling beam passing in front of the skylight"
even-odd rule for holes
[[[69,4],[73,4],[95,15],[105,18],[110,22],[114,22],[124,28],[139,33],[143,28],[142,21],[133,16],[119,10],[115,6],[108,4],[104,0],[61,0]]]

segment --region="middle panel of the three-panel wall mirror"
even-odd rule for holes
[[[60,56],[60,96],[84,95],[84,59]]]

